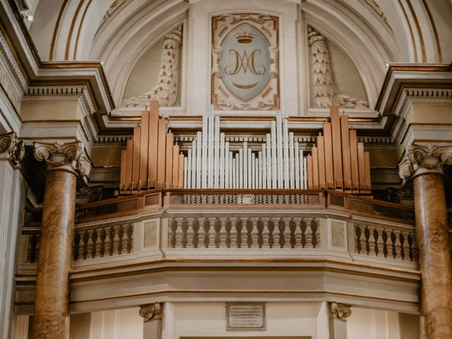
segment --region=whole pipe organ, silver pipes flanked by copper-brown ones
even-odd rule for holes
[[[370,194],[369,153],[349,129],[348,117],[331,107],[331,122],[311,155],[304,155],[288,129],[287,119],[276,113],[265,141],[251,148],[246,141],[231,147],[220,131],[213,107],[203,116],[203,127],[191,148],[179,149],[159,117],[157,101],[143,111],[141,125],[133,129],[121,153],[121,194],[148,189],[336,189]]]

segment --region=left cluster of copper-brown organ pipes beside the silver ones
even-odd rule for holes
[[[159,117],[158,102],[141,114],[141,124],[121,152],[120,194],[148,189],[179,189],[184,179],[184,155],[174,136],[167,132],[167,119]]]

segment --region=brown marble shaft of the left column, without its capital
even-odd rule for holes
[[[76,174],[47,172],[36,278],[33,338],[69,338],[69,270],[75,226]]]

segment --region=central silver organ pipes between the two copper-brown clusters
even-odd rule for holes
[[[261,148],[230,150],[213,107],[184,157],[184,189],[306,189],[307,160],[287,119],[276,114]]]

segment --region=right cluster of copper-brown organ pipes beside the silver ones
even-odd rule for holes
[[[331,122],[323,123],[323,136],[307,157],[308,189],[336,189],[352,194],[370,194],[369,152],[349,129],[348,117],[339,117],[331,106]]]

